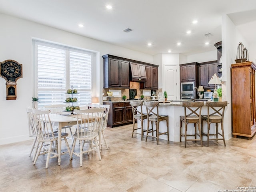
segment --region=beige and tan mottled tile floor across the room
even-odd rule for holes
[[[0,191],[219,192],[256,186],[255,138],[232,138],[226,147],[222,141],[209,147],[189,142],[184,148],[179,142],[131,138],[131,131],[131,125],[106,129],[109,149],[103,148],[101,161],[85,154],[82,167],[68,154],[60,166],[52,158],[45,169],[46,155],[34,166],[28,156],[32,141],[2,145]]]

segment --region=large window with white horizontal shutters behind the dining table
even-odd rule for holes
[[[79,105],[91,103],[93,53],[34,41],[38,107],[64,104],[73,86]],[[74,103],[73,103],[74,105]],[[77,104],[76,104],[77,105]]]

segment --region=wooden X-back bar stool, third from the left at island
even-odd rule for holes
[[[187,141],[200,141],[201,146],[203,146],[202,142],[202,134],[201,134],[201,109],[204,106],[204,102],[183,102],[182,107],[184,107],[184,116],[180,116],[180,142],[181,137],[185,138],[185,147]],[[182,133],[182,122],[185,123],[185,132]],[[188,131],[188,123],[194,123],[194,134],[187,134]],[[198,125],[198,133],[196,131],[196,125]],[[196,139],[196,136],[199,136],[199,139]],[[188,136],[194,136],[194,139],[187,139]]]

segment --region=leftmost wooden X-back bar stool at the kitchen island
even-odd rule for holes
[[[144,129],[144,125],[143,125],[144,119],[147,119],[147,115],[142,113],[142,104],[143,104],[142,101],[130,101],[130,105],[132,106],[132,114],[133,114],[132,137],[134,133],[139,134],[141,135],[141,141],[142,141],[143,133],[147,131],[146,129]],[[141,127],[138,127],[138,124],[137,124],[137,128],[135,128],[135,120],[140,120]],[[140,133],[137,132],[138,129],[141,129]]]

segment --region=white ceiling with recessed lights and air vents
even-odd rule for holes
[[[222,15],[228,14],[248,42],[256,43],[256,0],[0,0],[0,13],[150,55],[216,50]]]

